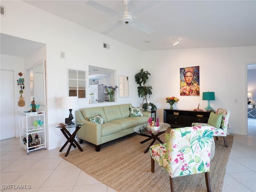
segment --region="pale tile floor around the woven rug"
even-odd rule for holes
[[[0,141],[1,192],[17,192],[14,188],[18,187],[31,187],[30,192],[115,191],[60,158],[66,148],[63,152],[59,152],[60,148],[41,149],[27,155],[19,141],[19,138]],[[8,186],[11,189],[5,190]],[[256,192],[256,119],[248,125],[248,136],[234,135],[222,192]]]

